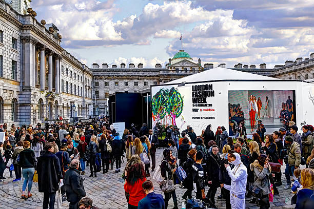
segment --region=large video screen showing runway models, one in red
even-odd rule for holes
[[[295,91],[228,91],[229,135],[245,127],[247,135],[256,133],[259,120],[266,133],[278,131],[285,121],[296,121]]]

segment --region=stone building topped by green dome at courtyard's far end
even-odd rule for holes
[[[182,78],[194,73],[203,71],[201,59],[193,62],[190,55],[180,50],[173,58],[169,58],[166,68],[156,64],[155,68],[144,68],[139,64],[129,64],[128,68],[124,63],[119,68],[107,64],[100,67],[94,63],[91,69],[93,74],[93,101],[96,115],[107,115],[107,102],[110,94],[116,92],[138,92],[150,88],[152,85],[160,85],[171,80]]]

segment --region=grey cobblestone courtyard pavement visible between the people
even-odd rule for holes
[[[162,159],[163,149],[158,149],[156,152],[156,164],[158,165]],[[126,161],[126,160],[125,160]],[[124,170],[126,162],[122,165],[122,171]],[[282,166],[282,172],[284,173],[285,166]],[[124,193],[124,180],[121,178],[121,173],[114,173],[113,170],[109,170],[107,174],[97,173],[96,178],[88,177],[90,175],[89,168],[85,171],[84,187],[87,196],[93,199],[93,202],[99,208],[127,208],[127,201]],[[33,196],[28,200],[21,199],[23,179],[19,182],[12,182],[14,178],[9,177],[8,169],[5,171],[5,181],[0,182],[0,208],[42,208],[43,206],[43,193],[38,193],[38,184],[33,183],[32,194]],[[14,172],[13,172],[14,176]],[[151,177],[147,179],[152,180],[153,172]],[[155,192],[163,194],[159,189],[159,186],[154,182]],[[285,183],[285,176],[282,175],[282,182]],[[270,208],[282,208],[283,205],[291,204],[292,194],[290,190],[284,190],[284,185],[278,188],[279,195],[274,197],[274,201],[270,203]],[[184,201],[182,195],[185,192],[184,189],[180,189],[176,186],[176,196],[178,198],[178,206],[181,208],[181,204]],[[207,193],[207,188],[206,188]],[[220,195],[220,189],[218,189],[216,197]],[[247,200],[250,200],[248,198]],[[63,202],[64,208],[68,208],[68,202]],[[225,208],[225,202],[216,198],[216,206],[218,208]],[[173,207],[172,198],[169,200],[168,208]],[[56,206],[55,206],[56,208]],[[246,201],[246,208],[259,208],[254,204]]]

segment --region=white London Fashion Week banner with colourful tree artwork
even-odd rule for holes
[[[216,93],[220,85],[200,83],[181,87],[152,87],[152,127],[158,122],[165,126],[172,124],[181,132],[189,125],[200,135],[208,124],[218,126]]]

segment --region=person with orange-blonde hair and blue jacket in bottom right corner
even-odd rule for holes
[[[296,209],[312,208],[314,205],[314,170],[302,169],[301,171],[302,189],[297,196]]]

